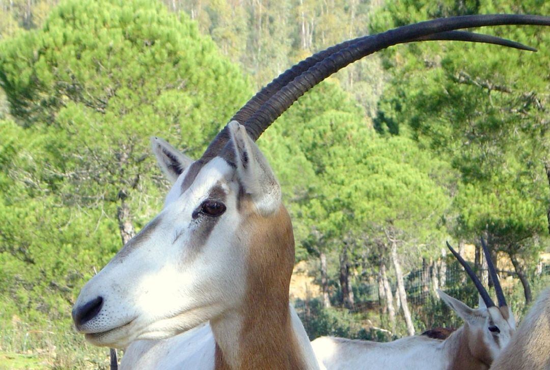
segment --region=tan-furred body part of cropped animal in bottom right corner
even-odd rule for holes
[[[491,369],[550,369],[550,289],[541,293]]]

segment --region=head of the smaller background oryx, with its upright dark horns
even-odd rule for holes
[[[510,307],[506,304],[506,299],[504,298],[504,293],[498,280],[497,271],[494,268],[485,240],[481,239],[481,244],[487,260],[489,275],[491,276],[491,281],[493,282],[494,290],[497,294],[498,306],[494,304],[491,296],[489,296],[487,290],[483,287],[483,284],[471,269],[470,265],[464,261],[449,243],[447,243],[448,248],[464,267],[464,270],[472,282],[476,285],[480,295],[479,307],[477,309],[471,309],[463,302],[443,293],[441,290],[438,290],[438,294],[458,316],[464,319],[464,330],[467,334],[465,336],[467,338],[465,341],[467,350],[477,358],[478,361],[490,366],[500,351],[509,343],[511,337],[515,333],[516,326],[514,315]]]

